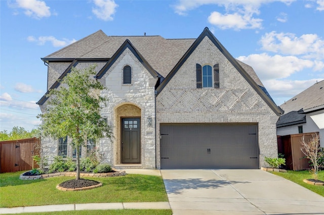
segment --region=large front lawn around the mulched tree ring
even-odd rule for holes
[[[87,178],[103,184],[84,191],[60,191],[56,185],[74,177],[21,180],[17,173],[0,174],[0,207],[100,202],[168,201],[161,177],[127,175],[110,178]]]

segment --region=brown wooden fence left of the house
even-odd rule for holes
[[[0,173],[38,168],[32,156],[39,154],[41,141],[37,138],[0,142]]]

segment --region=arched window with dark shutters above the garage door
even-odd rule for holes
[[[196,64],[196,83],[197,88],[219,89],[219,64],[214,65],[214,72],[210,65],[201,67]]]

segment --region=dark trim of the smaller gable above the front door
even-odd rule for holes
[[[104,67],[98,72],[96,75],[96,78],[100,79],[102,76],[106,73],[106,71],[113,65],[113,63],[119,58],[119,56],[126,50],[129,49],[135,57],[138,59],[139,62],[143,64],[143,66],[148,70],[149,73],[153,77],[158,77],[159,74],[147,63],[147,61],[143,58],[143,56],[135,49],[135,47],[132,45],[131,41],[126,39],[123,45],[119,47],[117,52],[109,59],[109,61],[106,63]]]

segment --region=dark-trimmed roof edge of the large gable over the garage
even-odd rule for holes
[[[227,58],[227,60],[237,69],[237,71],[248,81],[251,87],[260,95],[260,97],[267,103],[267,105],[274,111],[275,114],[280,115],[282,110],[273,102],[270,95],[267,92],[264,92],[263,89],[260,88],[259,84],[262,84],[258,76],[255,74],[252,67],[244,64],[240,61],[237,61],[233,58],[233,56],[223,47],[223,45],[218,41],[218,39],[212,34],[212,32],[206,27],[204,31],[198,36],[198,38],[193,42],[191,47],[187,50],[187,52],[182,56],[176,66],[171,70],[171,72],[167,75],[165,80],[159,85],[156,89],[157,94],[159,94],[164,87],[169,83],[172,77],[177,73],[183,63],[188,59],[188,57],[192,54],[192,52],[198,47],[200,42],[208,37],[213,44],[219,49],[219,51]],[[251,75],[242,67],[246,67],[247,70],[251,73]],[[253,74],[254,73],[254,74]],[[256,80],[253,79],[256,78]],[[256,83],[256,82],[259,82]],[[263,84],[261,85],[263,87]],[[264,88],[264,87],[263,87]],[[265,89],[265,88],[264,88]]]

